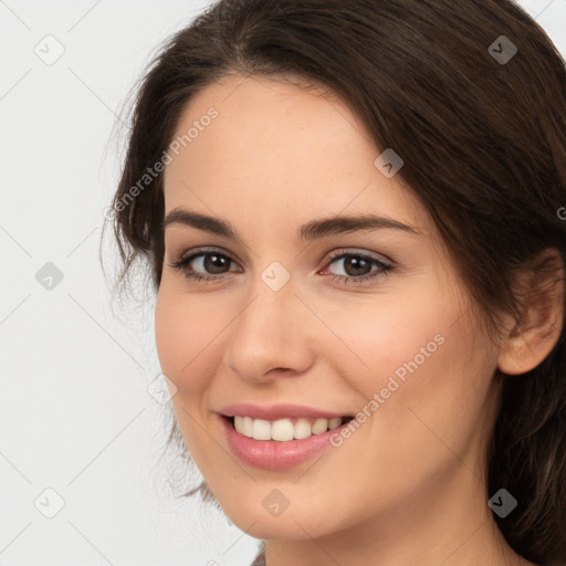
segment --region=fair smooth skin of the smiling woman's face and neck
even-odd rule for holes
[[[541,328],[546,318],[533,315],[521,337],[510,321],[502,345],[480,332],[432,221],[399,176],[376,168],[381,151],[338,98],[226,77],[191,101],[176,136],[211,106],[218,118],[166,168],[165,211],[222,219],[238,239],[167,226],[156,343],[187,447],[226,514],[265,539],[269,566],[528,564],[486,504],[483,454],[496,417],[493,373],[544,359],[556,339]],[[297,239],[315,219],[369,213],[417,232]],[[234,260],[220,273],[203,256],[192,261],[216,281],[170,265],[201,247]],[[373,266],[377,276],[356,283],[366,272],[333,260],[336,251],[394,269]],[[261,277],[275,261],[291,275],[279,291]],[[562,319],[557,308],[548,319]],[[222,407],[289,402],[355,415],[437,335],[442,345],[340,447],[286,470],[231,451]],[[289,500],[279,516],[262,505],[274,489]]]

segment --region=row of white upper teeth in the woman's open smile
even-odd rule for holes
[[[251,417],[234,417],[234,428],[240,434],[255,440],[277,440],[285,442],[293,439],[303,439],[313,434],[322,434],[327,430],[338,428],[345,418],[332,419],[279,419],[269,421],[252,419]]]

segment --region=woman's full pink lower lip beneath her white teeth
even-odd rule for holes
[[[244,463],[264,470],[287,470],[306,462],[331,446],[331,437],[339,433],[340,427],[313,434],[300,440],[279,442],[276,440],[255,440],[240,434],[230,419],[220,417],[222,427],[232,452]]]

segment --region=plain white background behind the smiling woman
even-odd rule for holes
[[[220,512],[166,486],[154,300],[118,318],[98,261],[119,111],[159,43],[208,3],[0,0],[2,566],[255,555]],[[520,3],[566,53],[566,0]]]

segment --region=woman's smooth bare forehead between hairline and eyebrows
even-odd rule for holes
[[[251,207],[268,216],[286,211],[298,221],[374,212],[421,228],[427,222],[400,179],[375,166],[381,149],[361,120],[322,88],[224,77],[190,101],[175,140],[180,144],[166,167],[166,211],[205,206],[245,218]]]

